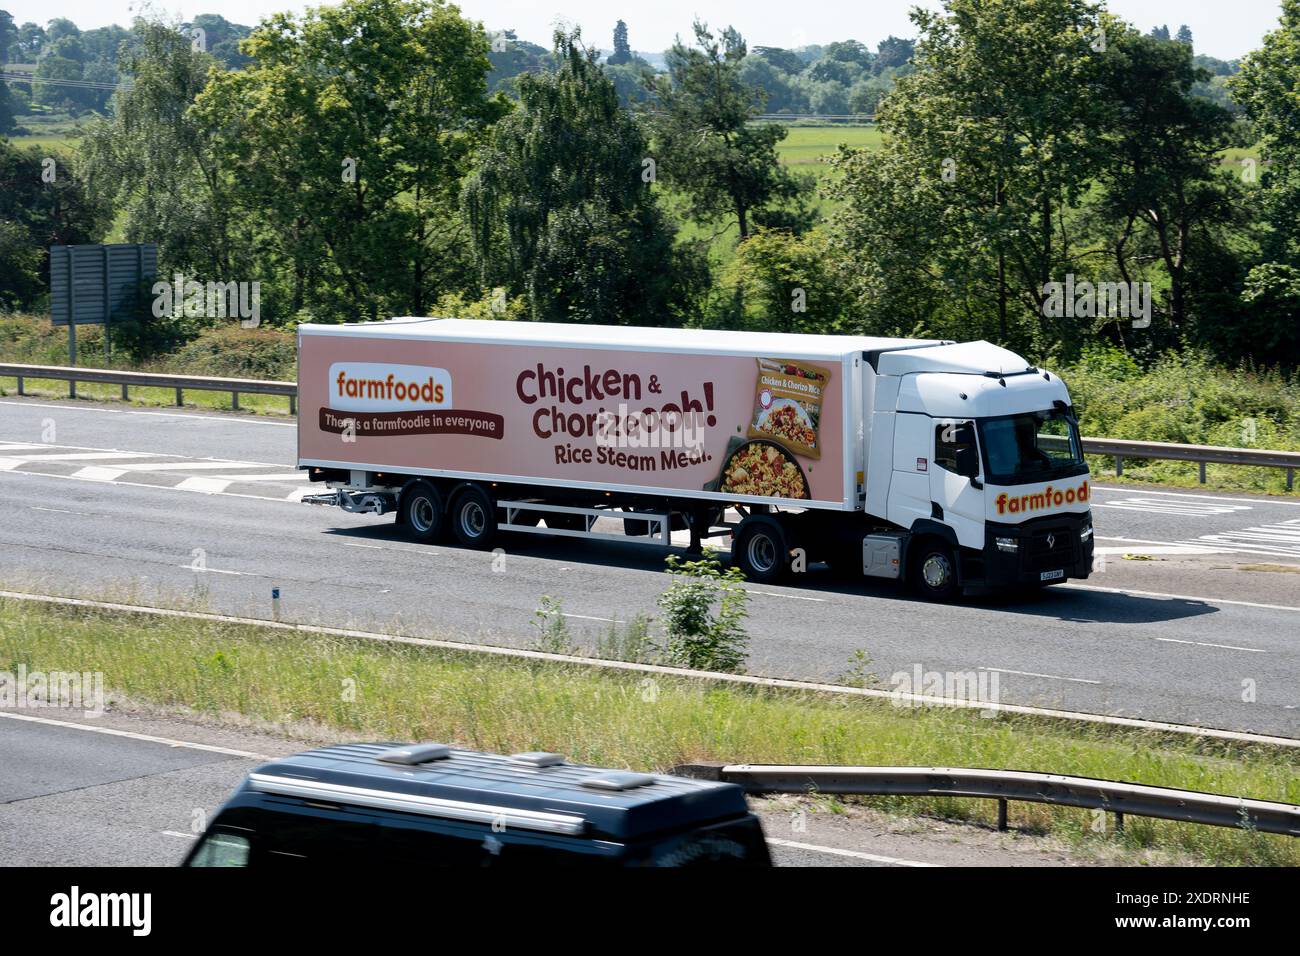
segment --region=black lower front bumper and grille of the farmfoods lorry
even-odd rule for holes
[[[962,583],[1005,588],[1087,578],[1092,549],[1091,512],[1048,515],[1020,524],[989,522],[984,550],[968,553],[963,562]]]

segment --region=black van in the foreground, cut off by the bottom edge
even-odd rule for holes
[[[728,783],[443,744],[347,744],[248,774],[182,865],[771,866]]]

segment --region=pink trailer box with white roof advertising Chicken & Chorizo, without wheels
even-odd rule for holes
[[[454,319],[302,325],[299,463],[846,510],[854,343]]]

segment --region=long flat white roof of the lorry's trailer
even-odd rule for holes
[[[781,332],[656,329],[634,325],[491,321],[474,319],[389,319],[347,325],[299,325],[311,336],[529,345],[540,349],[621,349],[630,351],[763,355],[789,359],[842,359],[852,352],[898,346],[939,345],[939,339],[871,336],[803,336]]]

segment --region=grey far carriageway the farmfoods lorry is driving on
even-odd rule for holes
[[[0,401],[0,585],[526,645],[543,594],[593,641],[654,613],[660,550],[521,536],[504,559],[298,498],[290,421]],[[1096,488],[1105,567],[1027,600],[933,606],[889,581],[753,587],[749,669],[833,680],[864,652],[997,674],[1000,700],[1300,736],[1300,501]],[[1126,561],[1143,553],[1149,561]]]

